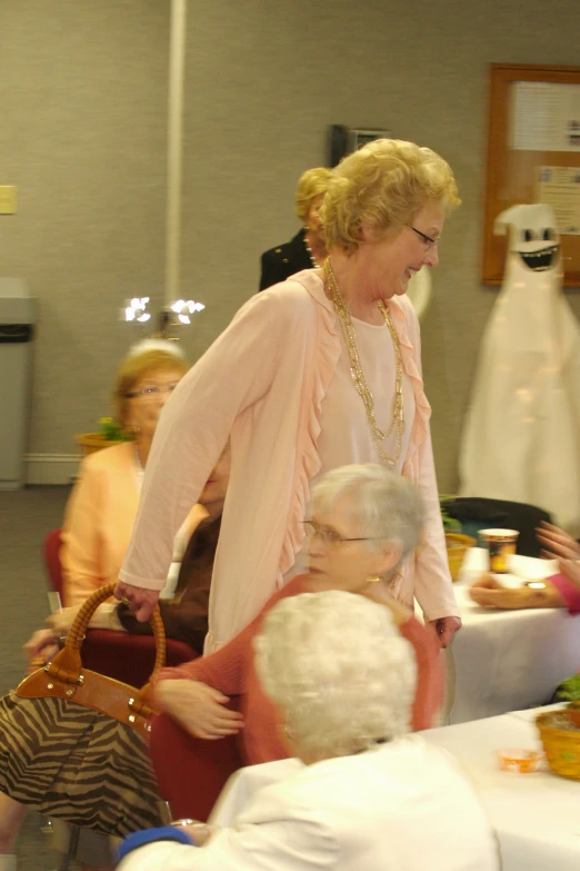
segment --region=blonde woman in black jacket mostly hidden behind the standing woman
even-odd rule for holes
[[[322,266],[327,258],[324,228],[320,207],[332,170],[327,167],[307,169],[300,176],[296,192],[296,214],[303,227],[289,243],[264,251],[261,257],[260,290],[284,281],[294,273]]]

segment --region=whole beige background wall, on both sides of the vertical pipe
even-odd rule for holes
[[[162,293],[168,28],[161,0],[0,3],[0,184],[21,204],[0,219],[0,273],[39,298],[31,452],[70,452],[103,412],[130,333],[117,309]],[[488,65],[573,65],[577,37],[578,0],[189,0],[182,291],[207,305],[192,357],[254,291],[260,253],[298,228],[296,180],[326,161],[328,125],[431,146],[464,204],[423,323],[440,485],[453,489],[496,297],[479,280]]]

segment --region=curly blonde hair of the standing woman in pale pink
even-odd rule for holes
[[[376,240],[396,235],[428,202],[447,215],[461,204],[449,164],[414,142],[368,142],[333,170],[320,209],[327,248],[354,251],[363,225]]]

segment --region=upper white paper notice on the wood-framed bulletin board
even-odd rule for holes
[[[510,148],[580,154],[580,85],[514,81],[509,119]]]

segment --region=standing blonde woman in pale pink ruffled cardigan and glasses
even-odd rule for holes
[[[406,290],[438,263],[459,198],[429,148],[379,139],[333,170],[322,205],[329,257],[253,296],[188,373],[154,438],[117,587],[139,618],[163,585],[177,526],[226,441],[231,477],[206,650],[233,637],[298,574],[311,485],[379,462],[420,488],[422,546],[393,581],[442,646],[461,625],[441,523],[421,377],[419,323]]]

